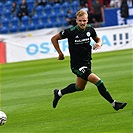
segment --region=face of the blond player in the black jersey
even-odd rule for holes
[[[85,29],[88,23],[88,17],[86,15],[77,17],[76,23],[80,29]]]

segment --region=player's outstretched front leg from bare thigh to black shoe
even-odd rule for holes
[[[127,103],[125,103],[125,102],[124,103],[116,102],[112,98],[112,96],[110,95],[110,93],[108,92],[106,87],[104,86],[103,81],[97,75],[95,75],[94,73],[91,73],[88,76],[88,81],[90,81],[91,83],[93,83],[97,86],[98,91],[101,94],[101,96],[103,98],[105,98],[108,102],[110,102],[115,110],[123,109],[126,106]]]

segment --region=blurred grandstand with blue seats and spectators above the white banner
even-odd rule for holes
[[[93,27],[133,23],[133,0],[0,0],[0,33],[75,25],[75,12]]]

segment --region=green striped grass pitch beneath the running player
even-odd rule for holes
[[[53,90],[75,82],[69,57],[0,65],[0,110],[8,116],[0,133],[132,133],[132,53],[93,54],[92,71],[114,99],[128,103],[119,111],[91,83],[52,108]]]

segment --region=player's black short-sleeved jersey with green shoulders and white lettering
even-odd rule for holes
[[[75,27],[61,31],[60,36],[62,39],[68,39],[71,67],[80,67],[90,62],[92,59],[90,38],[97,36],[94,28],[87,25],[85,30],[80,30],[76,25]]]

